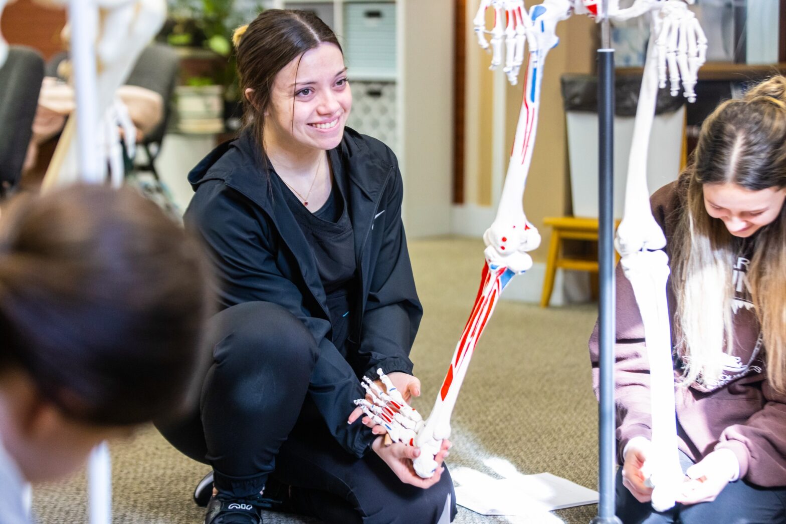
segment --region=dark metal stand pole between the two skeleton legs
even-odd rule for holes
[[[608,27],[608,1],[602,7],[601,49],[597,50],[597,113],[599,224],[598,266],[601,283],[599,335],[601,345],[601,395],[598,405],[598,491],[600,501],[593,524],[620,522],[615,516],[615,409],[614,409],[614,49]]]

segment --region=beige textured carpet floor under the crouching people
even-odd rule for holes
[[[410,242],[425,315],[413,348],[423,396],[431,410],[454,346],[475,299],[483,244],[440,238]],[[527,275],[517,278],[527,278]],[[452,419],[451,467],[494,475],[483,463],[501,457],[517,471],[549,471],[597,489],[597,403],[586,341],[596,317],[593,305],[542,310],[502,301],[472,360]],[[128,442],[112,443],[116,524],[196,524],[204,511],[191,493],[206,467],[171,448],[152,427]],[[86,522],[84,474],[67,482],[35,486],[34,511],[41,524]],[[556,511],[564,522],[589,522],[596,507]],[[266,522],[314,522],[269,513]],[[484,517],[460,508],[459,524],[533,522]],[[413,523],[417,524],[417,523]]]

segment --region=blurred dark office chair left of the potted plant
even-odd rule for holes
[[[46,64],[47,76],[57,75],[60,63],[68,58],[68,53],[58,53]],[[163,118],[161,122],[142,139],[141,145],[145,149],[147,161],[134,165],[134,170],[148,171],[156,180],[160,180],[156,171],[155,160],[161,150],[163,135],[167,132],[167,125],[172,114],[171,100],[174,87],[178,84],[178,71],[180,59],[178,53],[170,46],[153,43],[145,48],[139,55],[134,69],[129,75],[126,85],[144,87],[161,95],[163,99]]]

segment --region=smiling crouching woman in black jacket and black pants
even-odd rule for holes
[[[271,497],[326,522],[449,522],[447,471],[418,477],[419,450],[385,446],[354,412],[379,368],[420,394],[398,161],[345,126],[347,68],[318,17],[270,9],[234,41],[245,128],[189,174],[185,213],[224,310],[201,401],[160,430],[212,467],[195,494],[206,524],[259,524]]]

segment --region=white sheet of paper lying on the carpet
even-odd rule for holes
[[[451,470],[450,476],[458,485],[457,504],[481,515],[539,515],[537,522],[545,523],[561,522],[549,511],[598,501],[597,491],[550,473],[522,475],[515,468],[505,469],[505,478],[493,478],[468,467]],[[502,474],[499,468],[494,470]]]

